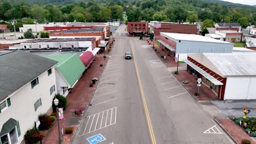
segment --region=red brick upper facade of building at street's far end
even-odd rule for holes
[[[137,25],[137,27],[135,27],[135,25]],[[139,26],[141,25],[141,26]],[[145,26],[143,26],[145,25]],[[132,28],[132,30],[131,30]],[[137,28],[137,31],[135,30],[135,28]],[[139,30],[139,28],[141,28],[141,30]],[[144,28],[144,30],[143,30]],[[148,22],[127,22],[127,31],[129,33],[148,33]]]

